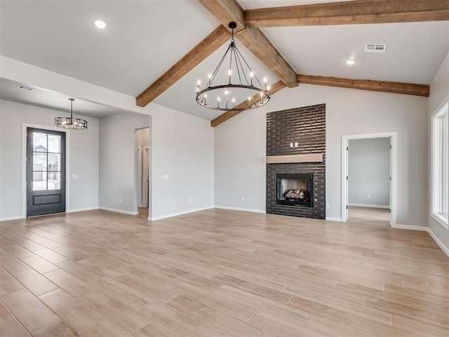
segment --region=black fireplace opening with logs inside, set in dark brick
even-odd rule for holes
[[[314,206],[313,173],[277,173],[276,204]]]

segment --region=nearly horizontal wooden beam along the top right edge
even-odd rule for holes
[[[351,25],[449,20],[446,0],[355,0],[244,12],[250,27]]]

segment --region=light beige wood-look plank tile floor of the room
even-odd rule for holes
[[[448,256],[365,211],[1,222],[0,335],[448,337]]]

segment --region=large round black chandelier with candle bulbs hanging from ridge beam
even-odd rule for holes
[[[229,28],[232,29],[231,44],[229,44],[225,55],[223,55],[214,72],[209,74],[205,88],[201,90],[201,81],[198,81],[196,102],[203,107],[222,111],[243,111],[262,107],[269,101],[267,79],[264,79],[263,85],[260,83],[248,62],[236,47],[234,41],[235,27],[237,27],[236,22],[229,22]],[[228,55],[229,61],[226,60]],[[220,72],[223,63],[229,64],[227,72]],[[232,80],[234,80],[234,83]],[[239,103],[236,105],[236,102]]]

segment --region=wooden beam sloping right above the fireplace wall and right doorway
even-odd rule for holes
[[[340,88],[382,91],[384,93],[402,93],[429,97],[430,86],[393,81],[377,81],[374,79],[348,79],[344,77],[328,77],[318,75],[297,74],[298,83],[315,84],[317,86],[337,86]]]

